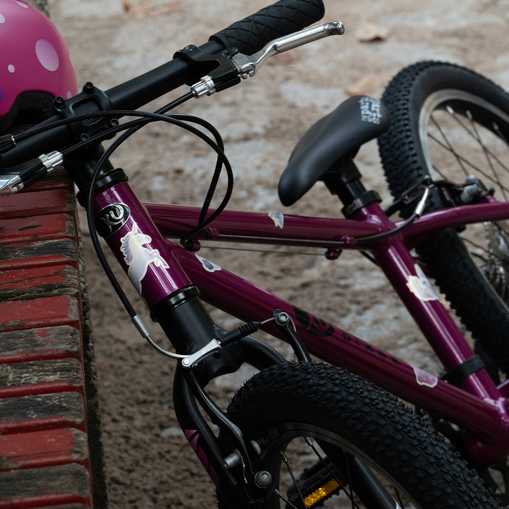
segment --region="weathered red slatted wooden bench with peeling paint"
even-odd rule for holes
[[[0,194],[0,509],[92,507],[102,475],[77,246],[62,174]]]

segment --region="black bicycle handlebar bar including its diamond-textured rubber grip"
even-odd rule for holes
[[[223,49],[237,47],[242,53],[251,54],[263,48],[274,38],[291,34],[319,21],[324,11],[323,0],[279,0],[212,35],[209,42],[200,46],[200,49],[215,54]],[[105,96],[110,109],[133,110],[182,86],[190,76],[190,65],[183,59],[175,58],[107,90]],[[39,126],[60,120],[62,120],[61,117],[54,116]],[[71,142],[72,135],[67,126],[53,128],[20,140],[14,148],[2,154],[0,165],[10,168]]]

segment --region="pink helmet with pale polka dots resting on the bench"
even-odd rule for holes
[[[0,0],[0,48],[0,132],[17,117],[23,123],[43,120],[54,97],[77,93],[69,50],[35,7]]]

